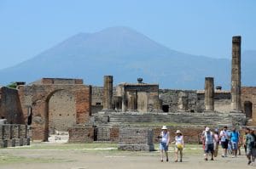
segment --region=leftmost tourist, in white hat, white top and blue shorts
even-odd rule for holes
[[[170,142],[170,133],[167,131],[167,127],[162,127],[162,132],[160,132],[160,161],[164,161],[164,151],[166,154],[166,161],[169,161],[168,158],[168,145]]]

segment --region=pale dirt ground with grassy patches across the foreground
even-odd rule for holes
[[[172,149],[169,152],[170,161],[160,162],[159,151],[154,152],[129,152],[119,151],[116,148],[108,149],[83,149],[81,147],[56,149],[58,145],[44,148],[27,147],[0,149],[1,169],[115,169],[115,168],[256,168],[247,166],[247,159],[242,155],[231,158],[231,155],[222,158],[220,154],[215,161],[203,161],[200,147],[184,149],[183,162],[174,162]]]

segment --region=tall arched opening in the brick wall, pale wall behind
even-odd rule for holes
[[[57,90],[47,101],[46,130],[50,142],[67,142],[68,129],[76,124],[76,104],[73,93]]]

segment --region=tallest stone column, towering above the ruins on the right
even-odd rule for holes
[[[231,110],[241,111],[241,37],[232,37]]]

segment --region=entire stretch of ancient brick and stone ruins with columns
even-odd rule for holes
[[[181,129],[187,143],[198,143],[205,125],[241,127],[256,121],[256,87],[241,87],[241,37],[232,38],[231,73],[230,91],[215,89],[213,77],[202,77],[204,90],[160,89],[141,77],[113,86],[113,76],[104,76],[102,87],[62,78],[1,87],[0,115],[7,123],[0,124],[1,145],[49,141],[66,133],[69,143],[109,141],[119,149],[152,150],[162,125],[172,135]]]

